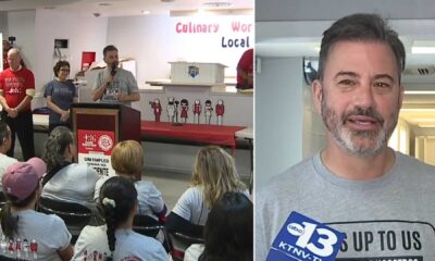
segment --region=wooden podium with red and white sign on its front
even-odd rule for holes
[[[140,142],[140,112],[105,103],[73,103],[71,111],[77,162],[87,163],[102,175],[114,174],[110,162],[114,145],[126,139]]]

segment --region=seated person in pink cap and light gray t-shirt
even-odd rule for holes
[[[62,219],[35,211],[46,163],[38,158],[8,167],[2,184],[7,203],[0,213],[0,252],[11,260],[70,260],[71,234]]]

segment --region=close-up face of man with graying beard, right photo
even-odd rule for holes
[[[388,46],[373,41],[335,44],[323,79],[316,80],[313,89],[328,142],[361,157],[386,148],[403,97],[399,69]]]

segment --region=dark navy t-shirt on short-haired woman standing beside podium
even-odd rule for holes
[[[74,98],[77,97],[75,86],[70,80],[59,82],[53,79],[45,88],[44,97],[51,96],[51,101],[64,111],[70,110]],[[61,123],[61,115],[51,110],[49,122],[50,124]]]

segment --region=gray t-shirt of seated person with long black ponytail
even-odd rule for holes
[[[113,260],[167,261],[169,256],[161,243],[132,229],[115,231]],[[85,226],[74,246],[72,260],[105,260],[110,256],[107,226]]]

